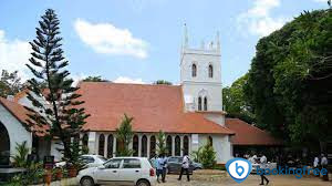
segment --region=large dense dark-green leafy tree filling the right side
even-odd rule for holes
[[[286,141],[314,146],[331,137],[331,11],[304,11],[257,44],[245,92],[258,125]]]

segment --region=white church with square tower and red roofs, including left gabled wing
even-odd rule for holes
[[[82,134],[82,144],[89,147],[89,153],[116,156],[121,144],[116,141],[115,131],[124,114],[134,117],[132,126],[135,135],[129,144],[134,156],[155,156],[159,131],[166,134],[169,156],[190,155],[210,143],[216,151],[218,164],[232,158],[234,145],[274,143],[268,133],[255,126],[225,118],[219,40],[215,43],[209,48],[193,49],[185,39],[180,52],[179,85],[79,83],[77,93],[85,102],[85,112],[91,114],[84,125],[87,132]],[[22,105],[31,106],[24,92],[12,101],[0,101],[0,126],[8,127],[11,153],[14,151],[11,146],[13,142],[27,140],[32,145],[32,136],[43,138],[29,132],[29,128],[25,132],[22,130],[27,117]],[[3,117],[3,114],[7,116]],[[9,121],[15,121],[14,124],[8,122],[9,117]],[[12,127],[23,131],[21,140],[15,138]],[[42,142],[38,140],[38,143]],[[52,140],[46,148],[49,154],[60,161],[55,144]],[[41,148],[48,145],[38,146]]]

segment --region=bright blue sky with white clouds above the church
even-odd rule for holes
[[[179,84],[184,24],[190,48],[220,33],[225,86],[250,69],[258,40],[303,10],[328,8],[326,0],[1,0],[0,70],[25,68],[29,44],[46,9],[60,19],[68,66],[75,80],[101,75],[114,82]]]

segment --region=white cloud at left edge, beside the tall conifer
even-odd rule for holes
[[[0,30],[0,71],[19,71],[22,81],[31,76],[30,70],[25,66],[29,62],[31,46],[27,41],[7,40],[6,32]]]

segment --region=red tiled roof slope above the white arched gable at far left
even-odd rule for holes
[[[29,118],[27,114],[29,111],[25,110],[22,105],[14,101],[9,101],[7,99],[0,97],[0,104],[2,104],[19,122],[22,123],[23,126],[25,125],[25,121]],[[44,127],[45,130],[46,127]],[[40,133],[41,128],[39,126],[33,126],[32,131],[35,132],[35,135],[43,136],[44,133]]]

